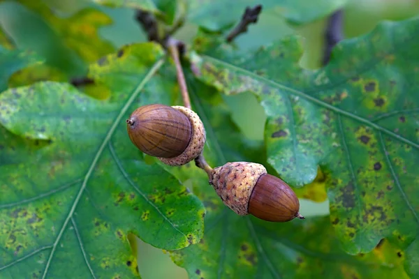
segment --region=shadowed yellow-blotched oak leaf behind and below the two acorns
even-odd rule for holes
[[[261,146],[238,136],[228,107],[211,87],[198,81],[189,81],[188,87],[207,129],[205,158],[210,165],[265,163]],[[404,258],[388,241],[369,254],[351,256],[339,247],[328,217],[268,223],[237,216],[208,185],[205,173],[192,171],[184,167],[182,180],[193,179],[193,193],[207,208],[205,235],[196,245],[170,252],[189,278],[409,278]]]

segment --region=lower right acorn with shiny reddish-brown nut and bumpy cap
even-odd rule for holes
[[[226,163],[212,169],[210,184],[226,206],[238,215],[251,214],[270,222],[288,222],[300,214],[293,190],[258,163]]]

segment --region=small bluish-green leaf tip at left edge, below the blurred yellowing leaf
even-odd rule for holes
[[[36,63],[41,63],[41,59],[33,52],[6,50],[0,46],[0,92],[7,88],[13,73]]]

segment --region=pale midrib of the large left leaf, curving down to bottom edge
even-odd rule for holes
[[[68,212],[66,220],[64,220],[64,223],[61,226],[61,229],[59,230],[59,234],[57,235],[57,239],[55,239],[54,244],[52,245],[52,250],[50,252],[50,257],[48,257],[47,264],[45,265],[45,270],[44,270],[44,273],[43,273],[43,276],[42,276],[43,279],[45,279],[45,277],[47,276],[47,272],[48,272],[48,269],[50,267],[52,257],[54,257],[54,252],[57,249],[57,245],[58,245],[59,241],[61,240],[61,236],[64,234],[64,231],[66,230],[66,227],[67,227],[68,223],[70,222],[71,218],[73,217],[73,213],[74,213],[74,211],[75,211],[75,209],[78,205],[78,202],[80,201],[80,198],[82,197],[84,189],[87,186],[87,182],[89,181],[89,178],[90,178],[91,174],[93,173],[94,168],[96,167],[99,158],[101,158],[101,155],[103,153],[103,150],[105,149],[105,146],[108,144],[110,138],[112,137],[113,133],[115,132],[115,129],[119,125],[119,122],[121,121],[122,116],[124,116],[124,114],[128,110],[128,107],[131,106],[131,104],[133,103],[135,98],[138,96],[138,93],[140,93],[142,88],[144,88],[145,84],[147,84],[147,82],[152,78],[154,73],[156,73],[156,71],[159,70],[159,68],[163,65],[163,61],[164,61],[163,58],[159,59],[159,61],[156,61],[156,63],[154,63],[154,65],[149,70],[147,75],[145,75],[144,79],[134,89],[133,93],[131,94],[131,97],[128,98],[124,107],[122,107],[122,110],[119,112],[119,114],[115,118],[115,121],[112,123],[112,126],[110,127],[110,130],[108,131],[105,138],[103,139],[103,142],[102,142],[101,146],[99,147],[99,149],[96,153],[96,156],[94,157],[93,161],[91,162],[91,165],[89,167],[89,170],[87,171],[87,174],[84,176],[82,186],[80,187],[80,190],[78,191],[78,194],[74,199],[73,205],[71,206],[71,209]]]

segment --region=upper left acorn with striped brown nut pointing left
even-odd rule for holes
[[[189,163],[205,145],[203,122],[187,107],[161,104],[138,107],[126,119],[126,129],[140,151],[171,166]]]

